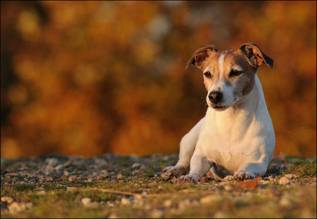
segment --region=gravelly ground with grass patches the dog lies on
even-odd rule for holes
[[[231,176],[222,181],[206,176],[198,184],[176,183],[176,178],[160,171],[175,165],[177,159],[177,155],[159,154],[1,158],[1,218],[80,218],[85,214],[97,218],[252,218],[258,216],[256,211],[249,212],[255,207],[271,218],[316,218],[316,170],[313,176],[287,172],[305,162],[315,162],[316,169],[316,158],[287,157],[286,164],[276,157],[263,178],[246,184]],[[67,198],[59,203],[55,196]],[[308,207],[307,197],[312,203]],[[41,204],[45,201],[62,206],[61,213],[45,212]],[[72,214],[73,207],[66,211],[70,202]],[[277,205],[272,211],[280,212],[267,214],[265,209],[271,205]]]

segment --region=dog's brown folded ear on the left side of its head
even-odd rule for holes
[[[197,66],[199,69],[201,69],[204,65],[204,62],[206,59],[214,52],[217,52],[218,49],[215,45],[206,45],[200,49],[198,49],[192,58],[187,62],[186,68],[189,67],[190,64],[193,64]]]

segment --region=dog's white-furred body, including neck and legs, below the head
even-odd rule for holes
[[[222,92],[226,89],[223,86]],[[210,168],[219,178],[263,176],[273,156],[275,133],[256,74],[252,91],[235,105],[238,107],[222,111],[209,107],[205,117],[183,137],[176,166],[164,171],[184,175],[190,166],[189,174],[180,180],[195,183]]]

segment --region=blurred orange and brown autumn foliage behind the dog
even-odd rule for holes
[[[252,41],[276,151],[316,156],[316,1],[1,1],[1,157],[177,153],[194,51]]]

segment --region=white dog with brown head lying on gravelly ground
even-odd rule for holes
[[[162,172],[194,183],[209,170],[220,179],[263,176],[273,157],[275,132],[256,73],[262,64],[273,68],[273,63],[252,42],[237,50],[198,49],[186,69],[193,64],[202,70],[208,109],[182,138],[177,164]]]

